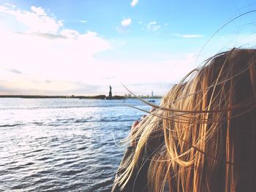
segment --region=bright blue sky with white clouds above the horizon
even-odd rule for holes
[[[108,95],[111,85],[123,95],[126,85],[162,96],[211,55],[255,47],[256,12],[222,28],[255,9],[254,0],[0,0],[0,94]]]

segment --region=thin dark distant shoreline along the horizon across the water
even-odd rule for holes
[[[0,98],[21,98],[21,99],[135,99],[133,96],[39,96],[39,95],[0,95]],[[142,99],[161,99],[161,96],[140,96]]]

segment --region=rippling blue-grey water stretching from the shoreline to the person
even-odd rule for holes
[[[156,99],[157,102],[159,100]],[[0,191],[110,191],[137,99],[0,99]]]

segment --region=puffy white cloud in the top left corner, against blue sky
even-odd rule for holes
[[[31,7],[31,11],[15,9],[10,6],[0,6],[0,12],[11,15],[23,26],[28,33],[57,34],[63,26],[61,20],[49,17],[42,7]]]

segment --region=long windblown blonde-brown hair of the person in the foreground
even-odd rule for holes
[[[130,137],[140,139],[119,184],[148,150],[149,191],[255,191],[256,50],[219,53],[188,77]]]

